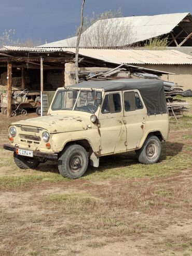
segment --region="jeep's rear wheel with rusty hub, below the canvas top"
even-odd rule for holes
[[[149,135],[141,149],[135,152],[140,163],[145,165],[155,164],[161,155],[161,142],[156,136]]]

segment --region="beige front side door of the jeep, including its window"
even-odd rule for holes
[[[126,128],[123,118],[122,93],[105,93],[99,113],[102,155],[126,151]]]

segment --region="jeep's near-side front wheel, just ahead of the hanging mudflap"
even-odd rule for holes
[[[78,144],[69,145],[59,156],[58,168],[63,177],[77,179],[86,172],[89,163],[87,151]]]

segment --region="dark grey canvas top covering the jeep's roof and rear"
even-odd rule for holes
[[[148,115],[168,113],[163,81],[158,79],[118,79],[107,81],[85,81],[70,88],[91,88],[104,91],[138,89],[147,107]]]

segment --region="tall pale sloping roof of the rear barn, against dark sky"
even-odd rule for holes
[[[123,18],[113,18],[106,20],[99,20],[90,26],[81,36],[80,47],[101,47],[100,42],[97,40],[97,33],[102,28],[102,34],[107,33],[107,37],[110,37],[109,31],[111,34],[114,32],[117,34],[117,41],[115,42],[114,47],[133,44],[146,39],[153,37],[161,36],[163,34],[170,33],[177,24],[179,24],[189,13],[177,13],[177,14],[163,14],[163,15],[154,15],[154,16],[132,16],[132,17],[123,17]],[[108,29],[104,29],[107,26]],[[122,33],[122,29],[131,29],[131,36],[127,38],[127,42],[120,42],[122,39],[118,36],[118,33]],[[118,27],[120,28],[118,30]],[[95,34],[96,33],[96,34]],[[91,37],[92,35],[92,37]],[[85,45],[86,36],[88,36],[89,44]],[[114,36],[114,35],[112,35]],[[76,36],[67,38],[61,41],[48,43],[46,45],[41,45],[40,47],[75,47]],[[119,41],[119,42],[118,42]],[[111,46],[111,45],[110,45]]]

